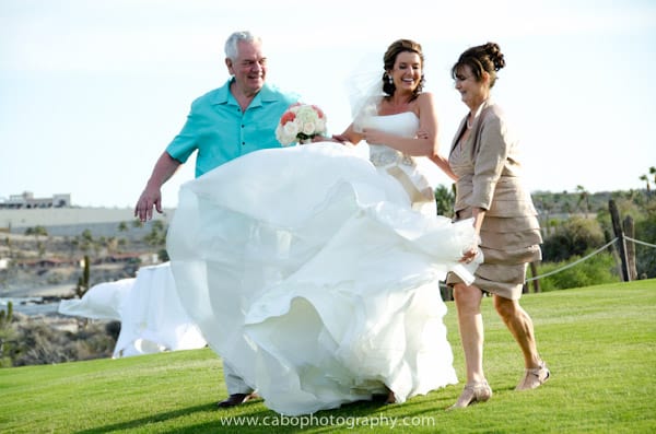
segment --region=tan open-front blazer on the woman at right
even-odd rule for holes
[[[462,119],[450,148],[450,156],[465,132]],[[482,208],[490,216],[536,215],[530,193],[522,184],[517,140],[511,134],[503,110],[488,99],[464,143],[458,167],[455,211]]]

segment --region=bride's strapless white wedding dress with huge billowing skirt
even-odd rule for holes
[[[385,118],[417,131],[412,114]],[[417,167],[386,146],[372,160],[329,142],[263,150],[180,188],[168,254],[181,303],[279,413],[457,383],[438,280],[473,279],[458,263],[471,222],[413,211],[396,176],[421,191]]]

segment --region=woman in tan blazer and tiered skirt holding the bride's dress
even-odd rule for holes
[[[449,154],[449,165],[458,176],[456,220],[473,218],[480,237],[462,261],[473,260],[480,250],[483,263],[471,285],[453,273],[447,279],[454,288],[467,367],[467,385],[450,409],[487,401],[492,396],[483,373],[480,306],[484,293],[493,295],[496,312],[524,354],[526,372],[516,389],[534,389],[550,374],[538,354],[532,321],[519,305],[527,265],[541,259],[542,239],[537,212],[519,177],[517,141],[508,131],[503,112],[490,98],[496,71],[504,66],[499,45],[488,43],[462,52],[452,69],[456,90],[469,107]]]

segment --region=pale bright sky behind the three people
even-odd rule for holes
[[[235,30],[265,37],[268,80],[320,105],[332,132],[350,120],[348,78],[393,40],[420,42],[444,154],[467,113],[450,66],[494,40],[507,64],[493,95],[530,190],[644,188],[656,166],[654,1],[0,0],[0,199],[132,207],[191,101],[227,79]]]

